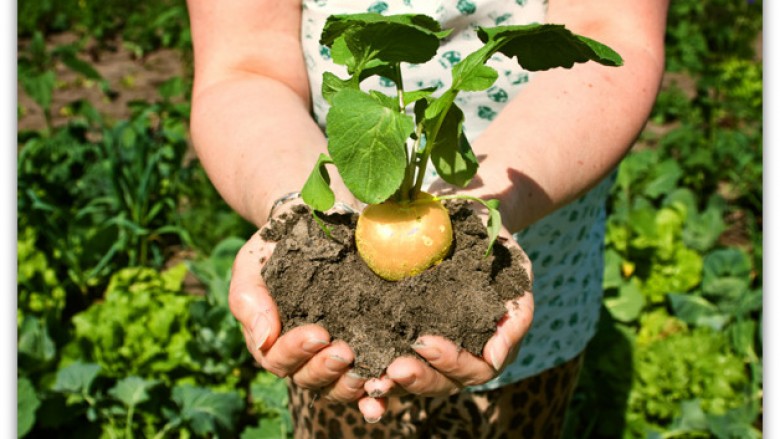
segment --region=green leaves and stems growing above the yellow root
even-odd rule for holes
[[[436,98],[431,94],[434,90],[406,90],[401,63],[428,62],[449,32],[425,15],[364,13],[331,16],[326,21],[320,43],[330,48],[334,62],[346,66],[349,74],[348,78],[332,73],[323,77],[322,94],[331,104],[328,153],[359,200],[377,204],[392,196],[399,202],[416,199],[429,158],[445,181],[459,186],[471,181],[477,160],[463,134],[463,112],[455,97],[493,84],[498,73],[485,65],[493,55],[517,58],[527,70],[570,68],[587,61],[622,64],[612,49],[561,25],[479,28],[483,46],[455,65],[450,88]],[[360,83],[371,76],[395,83],[397,95],[362,91]],[[407,114],[410,104],[415,105],[414,117]],[[413,144],[411,149],[407,142]],[[327,157],[318,160],[303,188],[303,199],[310,206],[332,205],[324,168],[328,162]]]

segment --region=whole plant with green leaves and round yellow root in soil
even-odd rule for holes
[[[320,43],[329,47],[347,78],[326,72],[322,95],[331,105],[327,115],[328,154],[321,154],[301,190],[312,211],[335,203],[327,166],[335,165],[344,184],[367,207],[358,217],[358,253],[380,277],[399,280],[441,262],[452,245],[452,225],[443,200],[466,198],[488,212],[489,245],[501,229],[498,200],[422,191],[426,166],[433,164],[447,183],[465,187],[479,166],[463,133],[460,92],[488,89],[498,72],[486,65],[497,53],[528,71],[570,68],[590,60],[619,66],[622,59],[609,47],[575,35],[562,25],[529,24],[477,28],[482,47],[452,69],[452,84],[438,96],[436,88],[407,90],[401,64],[430,61],[451,30],[442,30],[426,15],[382,16],[374,13],[334,15],[325,23]],[[395,96],[363,91],[366,78],[392,81]],[[408,111],[410,110],[410,111]]]

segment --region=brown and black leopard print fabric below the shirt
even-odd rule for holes
[[[562,433],[582,355],[514,384],[443,398],[414,395],[388,399],[376,424],[364,421],[356,404],[317,398],[288,380],[296,439],[481,438],[554,439]]]

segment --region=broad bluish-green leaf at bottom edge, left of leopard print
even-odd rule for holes
[[[200,436],[234,432],[237,417],[244,408],[236,392],[214,392],[190,385],[175,387],[173,400],[181,409],[181,418]]]

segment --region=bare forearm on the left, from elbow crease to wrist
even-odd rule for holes
[[[249,221],[265,222],[278,197],[303,186],[325,137],[300,97],[251,73],[195,94],[195,150],[227,203]]]

